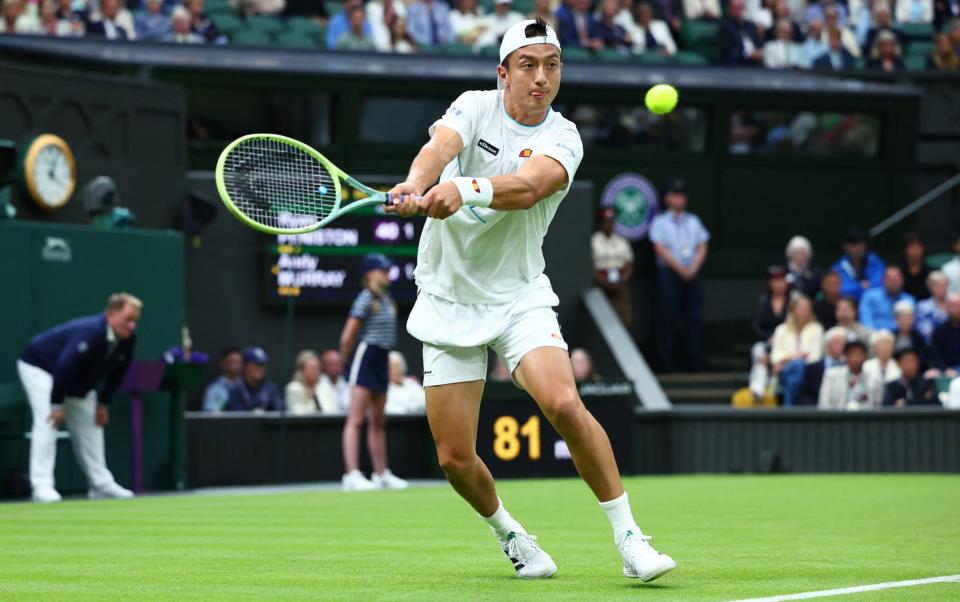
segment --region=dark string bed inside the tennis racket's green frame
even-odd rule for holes
[[[313,156],[279,140],[251,138],[224,162],[223,183],[236,208],[271,228],[312,226],[338,206],[337,186]]]

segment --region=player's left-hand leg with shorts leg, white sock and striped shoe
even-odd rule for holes
[[[477,455],[486,354],[485,347],[441,349],[424,345],[427,421],[437,458],[450,485],[490,525],[517,576],[550,577],[557,565],[507,512],[497,497],[490,470]]]

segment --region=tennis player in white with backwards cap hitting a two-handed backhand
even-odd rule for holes
[[[507,512],[476,453],[488,347],[566,441],[613,525],[624,575],[650,581],[676,564],[634,521],[610,441],[577,393],[552,309],[559,299],[543,273],[541,242],[583,157],[576,126],[550,107],[561,68],[552,28],[539,19],[511,27],[500,45],[498,89],[457,98],[430,127],[406,181],[390,191],[403,201],[388,211],[434,218],[420,239],[420,294],[407,330],[423,342],[440,465],[493,529],[517,576],[550,577],[557,567]]]

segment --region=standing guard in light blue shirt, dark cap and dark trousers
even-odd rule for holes
[[[687,368],[701,370],[700,328],[703,311],[700,268],[707,258],[710,233],[700,218],[687,213],[686,184],[675,178],[663,191],[667,211],[650,225],[650,242],[657,256],[657,355],[660,369],[673,370],[673,328],[678,312],[686,335]]]

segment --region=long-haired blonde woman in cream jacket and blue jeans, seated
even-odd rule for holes
[[[787,306],[787,319],[773,331],[770,362],[783,388],[783,405],[799,403],[807,364],[823,356],[823,328],[813,315],[810,300],[795,294]]]

